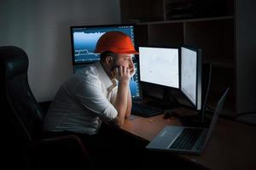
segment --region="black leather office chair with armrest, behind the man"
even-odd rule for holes
[[[84,144],[77,135],[43,137],[44,113],[27,80],[26,53],[14,46],[0,47],[0,69],[3,164],[19,169],[92,167]]]

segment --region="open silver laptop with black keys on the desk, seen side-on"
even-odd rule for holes
[[[212,122],[208,128],[166,126],[146,148],[148,150],[165,150],[176,154],[200,155],[218,122],[218,114],[222,111],[229,89],[227,88],[218,100],[217,107],[212,116]]]

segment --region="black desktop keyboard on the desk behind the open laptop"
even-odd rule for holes
[[[163,113],[163,111],[164,110],[160,108],[156,108],[156,107],[145,105],[145,104],[136,104],[136,103],[133,103],[131,108],[132,115],[143,116],[143,117],[160,115]]]

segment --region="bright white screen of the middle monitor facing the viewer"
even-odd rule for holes
[[[179,88],[178,48],[139,47],[140,80]]]

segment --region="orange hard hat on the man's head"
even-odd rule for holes
[[[131,38],[121,31],[108,31],[96,43],[95,53],[111,51],[115,54],[138,54]]]

